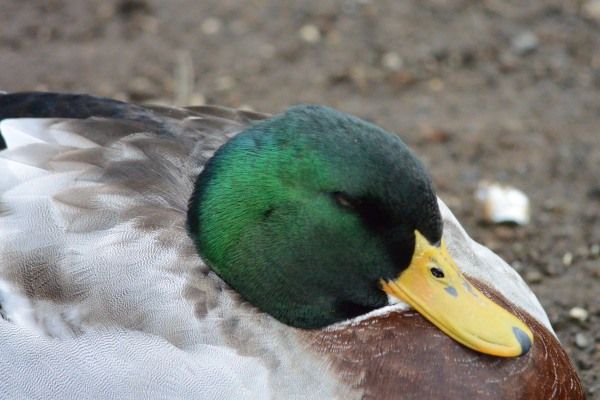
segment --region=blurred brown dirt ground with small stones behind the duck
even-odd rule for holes
[[[600,398],[600,1],[3,0],[0,89],[321,103],[398,132]],[[531,224],[479,222],[484,179],[527,193]]]

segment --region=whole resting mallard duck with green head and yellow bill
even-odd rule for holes
[[[0,94],[3,398],[583,399],[396,134]]]

